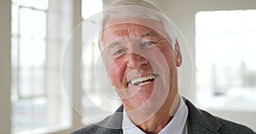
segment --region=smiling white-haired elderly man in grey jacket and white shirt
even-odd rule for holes
[[[214,117],[178,94],[182,54],[175,28],[159,8],[121,0],[104,12],[100,49],[123,105],[82,133],[242,133],[246,126]]]

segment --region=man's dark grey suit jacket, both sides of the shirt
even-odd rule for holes
[[[187,120],[189,134],[255,134],[247,126],[241,126],[234,122],[212,116],[212,114],[201,109],[196,109],[188,100],[185,100],[185,103],[189,109]],[[123,133],[122,113],[123,106],[119,107],[113,115],[108,116],[101,122],[78,131],[73,131],[71,134],[121,134]]]

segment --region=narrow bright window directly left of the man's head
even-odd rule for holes
[[[98,22],[93,19],[96,18],[95,16],[102,15],[100,13],[102,11],[102,0],[83,0],[82,2],[82,16],[84,23],[86,23],[86,26],[83,25],[82,40],[85,40],[85,36],[88,36],[86,31],[95,31],[96,26],[101,25],[96,24]],[[108,81],[108,75],[102,62],[97,35],[88,44],[83,41],[81,78],[83,84],[81,103],[84,121],[97,122],[119,107],[119,99]]]

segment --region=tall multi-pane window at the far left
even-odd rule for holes
[[[12,133],[67,123],[62,46],[48,34],[51,21],[48,0],[12,0]]]

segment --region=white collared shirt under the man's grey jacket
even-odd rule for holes
[[[189,110],[187,105],[184,103],[183,98],[180,97],[177,111],[172,117],[172,120],[159,132],[159,134],[188,134],[186,121],[188,118]],[[124,134],[146,134],[144,131],[139,129],[128,117],[123,113],[123,124],[122,129]]]

